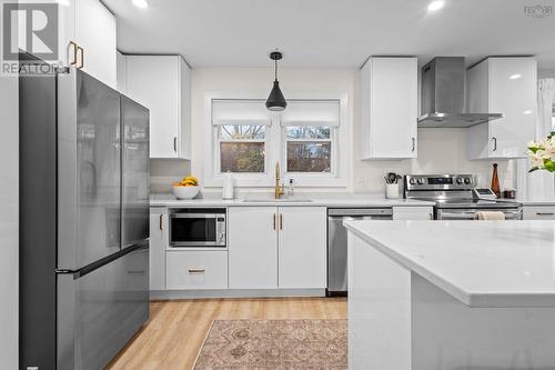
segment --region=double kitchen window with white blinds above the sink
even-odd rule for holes
[[[278,161],[284,182],[346,186],[347,152],[342,156],[340,151],[349,134],[344,94],[292,97],[283,112],[266,110],[264,99],[214,94],[206,94],[206,138],[211,138],[206,144],[211,148],[205,156],[205,186],[220,187],[228,171],[238,187],[273,186]]]

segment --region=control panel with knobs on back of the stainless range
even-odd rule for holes
[[[476,187],[473,174],[406,174],[407,190],[462,190]]]

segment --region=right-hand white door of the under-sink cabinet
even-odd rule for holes
[[[325,288],[326,210],[324,207],[281,207],[278,286]]]

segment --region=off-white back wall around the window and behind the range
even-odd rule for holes
[[[418,130],[418,158],[404,161],[360,161],[359,130],[359,71],[355,69],[281,69],[280,86],[287,97],[287,91],[340,91],[346,92],[350,103],[350,120],[353,144],[345,153],[350,158],[350,186],[335,191],[381,192],[383,176],[387,171],[401,173],[440,173],[468,172],[476,173],[483,186],[491,180],[490,161],[466,161],[466,132],[464,129],[421,129]],[[251,91],[260,92],[266,98],[273,79],[271,68],[196,68],[192,71],[192,160],[191,172],[203,178],[204,151],[204,93],[213,91]],[[500,161],[500,180],[502,187],[513,188],[509,161]],[[163,172],[164,177],[157,181],[171,181],[172,172],[168,161],[152,162],[153,173]],[[184,167],[183,167],[184,168]],[[186,174],[186,173],[185,173]],[[183,173],[175,173],[181,177]],[[160,186],[157,186],[160,188]],[[168,188],[170,190],[170,188]],[[252,190],[252,189],[245,189]],[[266,189],[265,191],[268,191]],[[330,191],[326,189],[306,189],[307,191]],[[206,190],[205,192],[220,192]]]

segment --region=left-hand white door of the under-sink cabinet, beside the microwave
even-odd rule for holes
[[[230,207],[230,289],[278,288],[278,208]]]

